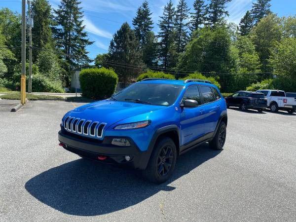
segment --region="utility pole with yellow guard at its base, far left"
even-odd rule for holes
[[[26,0],[22,0],[22,74],[21,104],[26,103]]]

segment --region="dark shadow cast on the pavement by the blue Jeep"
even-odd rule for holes
[[[144,181],[136,170],[78,159],[49,169],[29,180],[25,188],[42,203],[65,214],[96,216],[133,206],[169,186],[220,151],[208,144],[182,155],[173,177],[162,185]]]

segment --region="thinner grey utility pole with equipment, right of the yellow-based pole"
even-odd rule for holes
[[[28,0],[28,28],[29,28],[29,79],[28,79],[28,93],[32,92],[32,28],[33,19],[31,18],[31,4]]]

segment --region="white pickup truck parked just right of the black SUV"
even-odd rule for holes
[[[272,112],[278,112],[279,110],[285,110],[289,113],[296,111],[296,98],[286,96],[286,93],[282,90],[257,90],[256,92],[263,93],[267,99],[267,107]],[[291,94],[293,95],[293,93]]]

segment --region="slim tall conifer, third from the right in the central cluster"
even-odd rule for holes
[[[189,8],[185,0],[179,0],[175,15],[176,29],[176,50],[177,53],[183,52],[188,41],[188,19]]]

